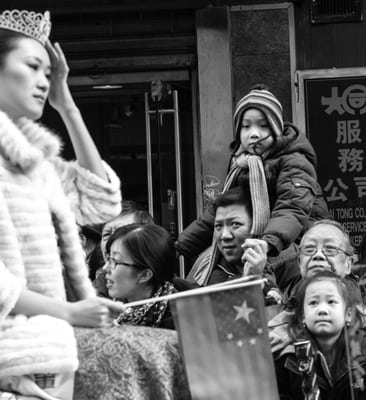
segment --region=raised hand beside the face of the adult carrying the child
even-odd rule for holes
[[[261,239],[246,239],[242,244],[243,276],[262,274],[267,263],[268,244]]]

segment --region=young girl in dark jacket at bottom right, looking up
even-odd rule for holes
[[[293,344],[276,357],[281,400],[366,398],[364,314],[352,292],[332,272],[300,285],[289,321]]]

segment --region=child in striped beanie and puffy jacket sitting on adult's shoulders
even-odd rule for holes
[[[283,122],[280,102],[264,86],[238,102],[234,127],[224,191],[240,185],[250,192],[251,234],[266,241],[269,256],[277,256],[301,235],[310,218],[328,216],[317,182],[315,152],[303,133]],[[182,232],[177,250],[195,256],[208,247],[213,221],[209,209]]]

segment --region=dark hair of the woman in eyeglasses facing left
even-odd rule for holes
[[[175,270],[175,247],[169,232],[159,225],[130,224],[112,234],[106,244],[109,254],[111,245],[121,239],[138,269],[149,268],[153,272],[152,285],[157,288],[164,281],[171,281]]]

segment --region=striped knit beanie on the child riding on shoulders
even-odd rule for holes
[[[244,112],[249,108],[257,108],[264,113],[274,138],[282,136],[283,116],[281,103],[270,91],[257,89],[251,90],[247,95],[242,97],[235,107],[234,127],[236,135],[240,131],[239,126]]]

